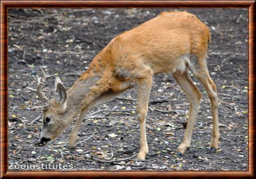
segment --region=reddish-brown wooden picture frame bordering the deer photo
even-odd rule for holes
[[[8,8],[248,8],[249,171],[8,171]],[[255,1],[1,1],[1,178],[229,177],[255,178]]]

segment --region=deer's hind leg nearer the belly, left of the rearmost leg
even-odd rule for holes
[[[193,126],[195,124],[197,112],[200,105],[201,93],[193,84],[193,81],[187,71],[182,74],[173,73],[172,75],[187,95],[190,103],[187,129],[184,134],[183,142],[177,149],[177,154],[180,156],[183,155],[185,151],[190,147]]]

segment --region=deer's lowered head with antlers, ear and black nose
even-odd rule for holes
[[[37,88],[27,88],[37,93],[42,100],[43,124],[40,141],[41,143],[46,143],[59,136],[68,125],[68,122],[64,120],[66,119],[67,95],[61,79],[59,76],[56,76],[54,98],[49,100],[46,94],[47,89],[44,88],[44,83],[52,75],[46,75],[42,68],[41,70],[43,77],[39,78],[37,75]]]

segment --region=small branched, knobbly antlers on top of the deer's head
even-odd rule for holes
[[[34,78],[37,81],[37,88],[31,88],[31,87],[27,87],[28,89],[30,89],[32,92],[35,92],[38,94],[39,98],[42,100],[43,102],[43,109],[48,108],[49,106],[49,99],[47,97],[47,95],[45,94],[45,90],[44,90],[44,83],[46,82],[47,79],[49,79],[50,77],[52,77],[53,75],[46,75],[45,72],[43,71],[42,67],[40,67],[40,69],[43,72],[43,78],[42,77],[38,77],[37,79]]]

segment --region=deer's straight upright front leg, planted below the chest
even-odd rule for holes
[[[145,160],[148,154],[147,136],[146,136],[146,117],[148,109],[148,100],[150,96],[152,78],[145,80],[143,84],[138,84],[138,106],[137,115],[141,128],[141,149],[138,153],[139,160]]]

